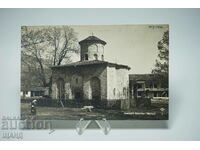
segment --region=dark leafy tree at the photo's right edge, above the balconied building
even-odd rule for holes
[[[152,73],[158,76],[165,87],[168,87],[169,73],[169,31],[164,32],[162,39],[158,42],[158,59]]]

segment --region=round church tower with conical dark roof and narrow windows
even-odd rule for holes
[[[79,42],[81,47],[81,61],[100,60],[104,61],[104,46],[106,42],[95,37],[88,38]]]

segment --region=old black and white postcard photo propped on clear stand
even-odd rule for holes
[[[21,26],[21,118],[168,120],[169,25]]]

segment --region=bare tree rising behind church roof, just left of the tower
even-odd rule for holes
[[[53,65],[60,65],[64,60],[69,60],[68,52],[79,52],[77,35],[68,26],[49,27],[45,31],[50,53],[53,58]]]

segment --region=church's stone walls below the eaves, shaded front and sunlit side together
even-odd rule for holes
[[[87,65],[81,67],[63,67],[53,70],[52,98],[58,99],[57,80],[62,78],[65,84],[65,99],[76,99],[76,92],[80,92],[82,101],[92,100],[92,78],[100,80],[100,101],[95,102],[105,108],[120,107],[129,109],[128,99],[128,69],[118,69],[116,66]],[[93,99],[94,100],[94,99]],[[92,101],[94,102],[94,101]]]

